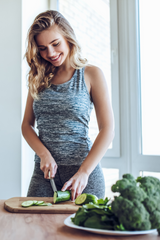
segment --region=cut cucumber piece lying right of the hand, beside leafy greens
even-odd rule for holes
[[[75,200],[75,204],[77,205],[82,205],[82,204],[86,204],[86,203],[97,203],[97,196],[93,195],[93,194],[89,194],[89,193],[82,193],[81,195],[79,195],[76,200]]]

